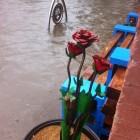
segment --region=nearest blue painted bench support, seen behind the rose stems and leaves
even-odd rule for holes
[[[70,88],[74,87],[74,89],[76,90],[76,84],[74,82],[74,78],[77,81],[77,77],[71,76]],[[61,88],[65,91],[67,90],[68,82],[69,82],[69,79],[67,79],[62,84]],[[81,86],[80,91],[85,90],[86,92],[88,92],[89,87],[90,87],[90,83],[91,83],[90,81],[83,79],[83,85]],[[92,96],[94,96],[96,94],[95,89],[97,88],[97,85],[98,85],[98,83],[94,82],[92,90],[91,90]],[[106,86],[101,85],[101,92],[106,92]],[[96,134],[98,134],[99,128],[101,128],[103,126],[103,123],[104,123],[104,114],[101,113],[101,108],[106,100],[106,96],[102,97],[102,98],[99,96],[96,96],[94,98],[94,100],[97,101],[97,108],[91,114],[91,116],[95,119],[94,124],[87,124],[87,126],[89,126]],[[63,104],[62,104],[62,118],[64,118]]]

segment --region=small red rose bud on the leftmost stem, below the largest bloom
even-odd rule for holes
[[[74,57],[79,55],[79,54],[82,54],[83,51],[82,49],[80,49],[75,43],[73,42],[68,42],[68,45],[67,45],[67,51],[68,51],[68,54],[72,54]]]

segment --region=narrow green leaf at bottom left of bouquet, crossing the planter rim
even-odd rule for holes
[[[61,130],[62,130],[61,133],[62,140],[70,140],[70,128],[65,120],[61,122]]]

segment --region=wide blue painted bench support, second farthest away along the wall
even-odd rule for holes
[[[114,27],[113,36],[116,35],[117,32],[123,32],[124,33],[123,38],[121,38],[119,40],[120,42],[122,42],[126,38],[128,33],[136,34],[136,27],[130,27],[130,26],[125,26],[125,25],[117,24]]]

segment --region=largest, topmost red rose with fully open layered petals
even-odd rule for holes
[[[93,42],[99,42],[99,38],[93,32],[78,30],[72,35],[73,39],[81,46],[89,47]]]

